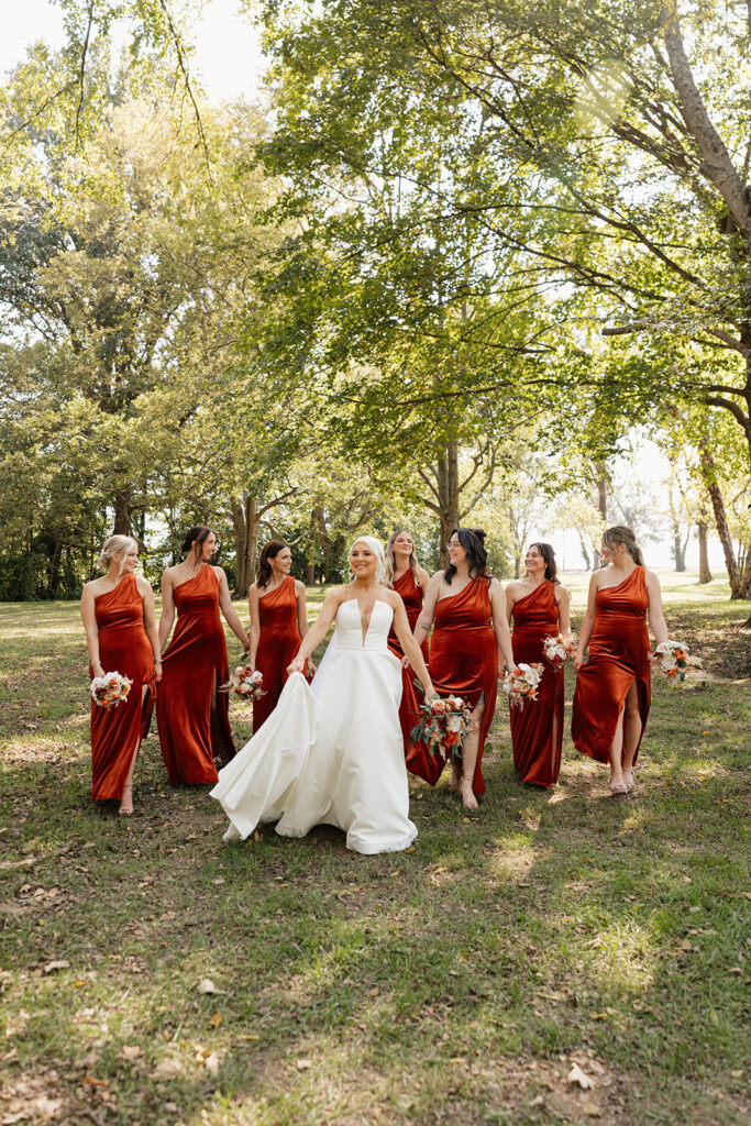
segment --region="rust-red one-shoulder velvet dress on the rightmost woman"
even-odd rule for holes
[[[598,762],[608,762],[618,717],[636,681],[642,734],[650,714],[650,635],[646,628],[644,568],[635,566],[617,587],[597,593],[589,661],[576,676],[571,734],[574,747]]]

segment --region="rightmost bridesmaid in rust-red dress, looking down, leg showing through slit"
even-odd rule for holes
[[[650,635],[668,641],[660,582],[646,571],[631,528],[602,535],[604,566],[589,583],[589,601],[574,658],[578,673],[571,733],[582,754],[610,766],[610,793],[627,794],[650,713]],[[584,653],[589,644],[589,661]]]

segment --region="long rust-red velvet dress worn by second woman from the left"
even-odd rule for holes
[[[226,763],[235,753],[229,695],[215,692],[230,676],[230,662],[214,568],[206,564],[176,587],[175,606],[177,626],[157,698],[159,740],[170,781],[197,786],[217,780],[215,756]]]

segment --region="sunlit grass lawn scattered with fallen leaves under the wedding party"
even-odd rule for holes
[[[665,578],[708,678],[655,683],[632,795],[570,740],[519,786],[501,705],[479,815],[413,780],[378,857],[223,844],[153,732],[136,815],[93,806],[78,607],[0,606],[0,1124],[748,1120],[751,604]]]

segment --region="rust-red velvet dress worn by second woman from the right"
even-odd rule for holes
[[[540,582],[526,598],[513,604],[513,660],[524,664],[537,662],[544,672],[537,699],[524,708],[510,708],[513,765],[521,780],[536,786],[554,786],[561,772],[563,747],[563,668],[546,660],[543,638],[558,632],[558,604],[555,583]]]

